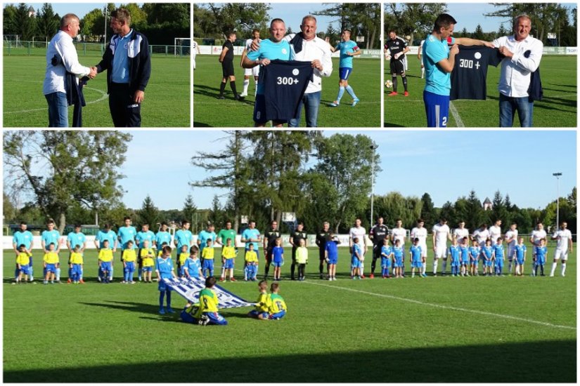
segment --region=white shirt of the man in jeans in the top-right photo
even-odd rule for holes
[[[494,40],[494,46],[505,46],[513,53],[512,58],[504,58],[501,61],[499,92],[514,98],[529,96],[530,74],[536,71],[540,65],[543,53],[542,42],[531,36],[522,41],[517,41],[514,35],[510,35],[501,36]],[[528,58],[524,56],[526,51],[530,51]]]

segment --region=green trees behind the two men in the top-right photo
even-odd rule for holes
[[[531,18],[530,34],[541,40],[545,46],[553,45],[548,41],[548,33],[556,34],[558,46],[576,46],[576,6],[557,3],[493,3],[493,5],[498,9],[482,16],[501,18],[503,21],[498,31],[484,32],[482,26],[478,24],[473,31],[468,31],[467,27],[457,29],[453,32],[453,36],[493,41],[499,36],[512,34],[513,18],[525,13]],[[425,36],[432,32],[437,16],[446,12],[448,8],[445,3],[385,4],[385,33],[394,29],[399,36],[411,36],[411,41],[425,39]],[[456,18],[458,25],[465,25],[457,15],[452,16]]]

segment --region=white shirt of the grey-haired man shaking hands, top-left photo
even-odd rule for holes
[[[52,65],[51,60],[54,55],[63,58],[63,65]],[[46,75],[44,76],[42,93],[44,95],[51,93],[66,93],[66,72],[75,74],[77,78],[82,78],[82,76],[89,75],[91,69],[89,67],[84,67],[79,63],[77,48],[72,44],[72,37],[64,31],[58,31],[58,33],[51,39],[49,48],[46,50]]]

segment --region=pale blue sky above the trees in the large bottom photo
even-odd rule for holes
[[[344,131],[341,131],[344,133]],[[330,136],[336,131],[324,131]],[[552,173],[563,173],[560,195],[576,185],[574,131],[349,131],[369,135],[379,145],[382,172],[375,194],[398,191],[420,197],[429,192],[435,206],[455,201],[475,189],[479,199],[500,190],[521,207],[543,208],[556,197]],[[198,151],[222,148],[221,131],[131,131],[127,161],[120,183],[124,203],[140,208],[150,194],[162,209],[181,208],[192,194],[198,208],[209,208],[214,194],[224,191],[192,189],[191,180],[209,174],[191,166]],[[165,143],[167,151],[143,157]],[[143,184],[143,180],[151,183]]]

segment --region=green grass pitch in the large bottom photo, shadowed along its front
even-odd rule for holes
[[[85,263],[85,285],[11,285],[4,251],[5,382],[576,382],[575,254],[565,278],[558,268],[554,278],[353,281],[340,248],[339,279],[323,281],[311,249],[307,280],[281,281],[284,319],[235,308],[223,310],[225,327],[157,314],[157,284],[120,284],[118,264],[115,281],[98,284],[94,251]],[[39,253],[34,266],[38,275]],[[255,283],[223,286],[257,298]],[[174,309],[184,302],[174,294]]]

